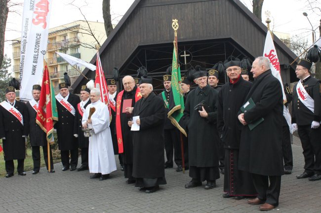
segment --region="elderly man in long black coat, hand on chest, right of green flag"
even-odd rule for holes
[[[194,73],[198,87],[187,96],[184,122],[188,128],[189,175],[192,178],[185,188],[201,186],[205,189],[216,186],[220,178],[218,162],[217,91],[207,85],[207,72],[199,69]]]

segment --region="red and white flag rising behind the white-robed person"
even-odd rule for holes
[[[100,89],[100,98],[101,102],[108,105],[109,108],[109,115],[111,116],[110,108],[116,112],[116,106],[113,102],[109,101],[109,94],[108,94],[108,87],[105,79],[105,74],[103,67],[101,66],[101,61],[99,57],[99,52],[97,51],[97,61],[96,61],[96,79],[95,79],[95,88]]]

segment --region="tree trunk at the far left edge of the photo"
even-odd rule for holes
[[[4,32],[8,18],[8,0],[0,0],[0,67],[3,60]]]

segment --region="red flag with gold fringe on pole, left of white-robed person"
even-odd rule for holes
[[[54,97],[53,87],[51,85],[48,67],[46,64],[43,69],[41,93],[36,122],[46,133],[47,142],[50,144],[54,141],[52,134],[54,121],[58,121],[56,101]]]

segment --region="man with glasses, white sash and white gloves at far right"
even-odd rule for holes
[[[321,180],[321,98],[320,80],[311,76],[312,62],[300,59],[295,74],[300,79],[293,87],[292,127],[298,130],[304,155],[304,172],[297,179]]]

